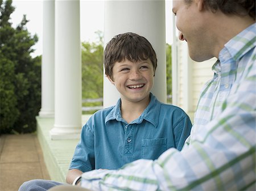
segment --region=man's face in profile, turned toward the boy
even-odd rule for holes
[[[212,58],[214,42],[209,36],[209,21],[207,14],[201,11],[202,1],[186,3],[185,0],[172,2],[172,12],[176,15],[176,27],[180,31],[179,39],[188,43],[189,56],[192,60],[201,62]]]

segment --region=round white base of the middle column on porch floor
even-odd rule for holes
[[[55,126],[49,131],[52,140],[62,139],[79,139],[81,128],[74,128],[71,126]]]

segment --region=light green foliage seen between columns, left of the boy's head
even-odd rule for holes
[[[82,43],[82,99],[103,97],[103,35],[98,34],[96,43]],[[83,106],[102,105],[84,103]],[[93,111],[94,112],[94,111]]]

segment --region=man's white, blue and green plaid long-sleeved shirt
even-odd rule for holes
[[[256,24],[221,50],[180,152],[83,173],[92,190],[255,190]]]

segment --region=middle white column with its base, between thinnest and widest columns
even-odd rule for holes
[[[80,2],[55,1],[55,124],[52,139],[80,137]]]

